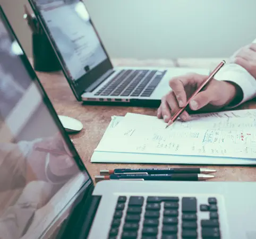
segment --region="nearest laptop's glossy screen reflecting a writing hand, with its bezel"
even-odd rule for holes
[[[0,238],[48,238],[89,185],[0,7]]]

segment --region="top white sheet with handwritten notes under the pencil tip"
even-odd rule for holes
[[[256,158],[254,115],[256,110],[194,115],[165,129],[155,116],[127,113],[96,151]]]

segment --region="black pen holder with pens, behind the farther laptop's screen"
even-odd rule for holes
[[[32,31],[32,54],[33,67],[35,71],[53,72],[61,70],[61,64],[47,38],[44,30],[40,27],[35,15],[30,14],[27,6],[24,5],[25,14],[23,18]]]

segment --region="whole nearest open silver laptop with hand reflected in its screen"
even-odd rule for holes
[[[0,72],[0,238],[256,238],[254,182],[93,185],[1,6]]]

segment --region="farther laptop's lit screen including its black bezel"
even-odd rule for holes
[[[75,93],[106,73],[107,53],[81,0],[30,0]]]

